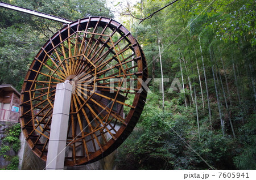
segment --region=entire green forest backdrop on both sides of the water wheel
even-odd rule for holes
[[[52,8],[49,1],[11,2],[72,20],[113,18],[100,0],[54,0]],[[152,78],[139,123],[115,155],[117,169],[255,169],[255,1],[179,0],[163,8],[171,2],[115,6]],[[61,25],[6,12],[0,9],[0,84],[21,89],[40,45]],[[174,79],[182,88],[170,91]]]

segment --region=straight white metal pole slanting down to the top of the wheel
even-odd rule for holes
[[[31,15],[34,15],[34,16],[39,16],[41,18],[55,20],[57,22],[61,22],[61,23],[65,23],[65,24],[69,24],[69,23],[72,22],[71,20],[60,18],[58,16],[53,16],[53,15],[49,15],[49,14],[46,14],[46,13],[43,13],[43,12],[29,10],[27,8],[18,7],[18,6],[10,5],[10,4],[3,3],[3,2],[0,2],[0,7],[5,7],[5,8],[9,8],[10,10],[20,11],[20,12],[24,12],[24,13],[31,14]]]

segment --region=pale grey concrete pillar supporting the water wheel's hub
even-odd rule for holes
[[[57,84],[49,136],[46,169],[64,169],[72,85]]]

